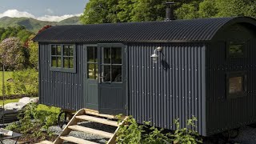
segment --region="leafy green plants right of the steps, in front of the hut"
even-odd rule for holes
[[[175,120],[177,130],[174,133],[164,133],[163,129],[158,130],[154,126],[150,126],[150,122],[145,122],[145,125],[138,125],[136,120],[131,116],[125,120],[126,125],[120,126],[118,130],[118,143],[130,144],[146,144],[146,143],[202,143],[195,128],[197,118],[194,116],[187,120],[186,128],[180,128],[179,120]],[[129,125],[127,125],[129,123]]]

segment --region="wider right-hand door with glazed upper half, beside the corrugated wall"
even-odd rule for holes
[[[98,44],[98,94],[101,114],[126,114],[125,47]]]

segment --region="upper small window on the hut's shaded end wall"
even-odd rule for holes
[[[228,43],[228,55],[229,57],[244,57],[245,54],[245,42],[229,42]]]

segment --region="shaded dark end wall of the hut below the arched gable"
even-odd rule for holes
[[[226,59],[226,42],[213,43],[207,49],[206,62],[206,127],[207,134],[245,126],[256,122],[256,39],[246,43],[246,58]],[[245,71],[247,94],[242,98],[226,98],[226,74]]]

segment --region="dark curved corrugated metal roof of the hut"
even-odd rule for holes
[[[39,33],[34,41],[199,42],[210,41],[218,30],[234,23],[250,23],[256,26],[256,20],[249,17],[53,26]]]

